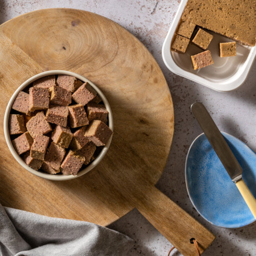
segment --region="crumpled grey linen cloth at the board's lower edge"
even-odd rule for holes
[[[120,256],[134,241],[86,221],[51,218],[0,204],[1,256]]]

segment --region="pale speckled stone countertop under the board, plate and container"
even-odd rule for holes
[[[185,185],[185,158],[191,142],[201,130],[190,112],[190,105],[201,101],[210,111],[219,129],[238,137],[256,151],[256,63],[245,83],[238,90],[220,93],[186,80],[165,67],[161,47],[179,6],[179,0],[1,0],[0,23],[36,9],[66,7],[83,9],[121,24],[156,58],[173,96],[175,132],[170,156],[157,188],[175,201],[216,235],[204,252],[205,256],[256,255],[256,224],[239,229],[225,229],[211,225],[193,208]],[[135,240],[131,255],[168,255],[172,245],[139,213],[129,214],[110,226]],[[178,256],[180,253],[173,252]]]

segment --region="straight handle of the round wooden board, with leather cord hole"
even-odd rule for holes
[[[142,194],[142,191],[147,191]],[[136,195],[136,208],[161,234],[167,238],[176,249],[184,256],[196,256],[194,244],[190,243],[195,238],[203,253],[213,242],[215,236],[181,209],[168,196],[161,193],[154,185],[147,184],[147,188],[140,189],[140,197]]]

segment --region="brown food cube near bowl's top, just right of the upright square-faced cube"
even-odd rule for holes
[[[50,103],[52,105],[68,106],[72,102],[71,91],[59,86],[52,86],[50,89]]]

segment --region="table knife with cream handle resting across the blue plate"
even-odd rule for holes
[[[216,152],[216,155],[219,157],[232,181],[237,185],[237,188],[256,219],[256,199],[244,183],[242,179],[243,169],[227,144],[227,141],[225,141],[209,112],[201,102],[195,102],[190,108],[201,129],[204,131],[206,138]]]

